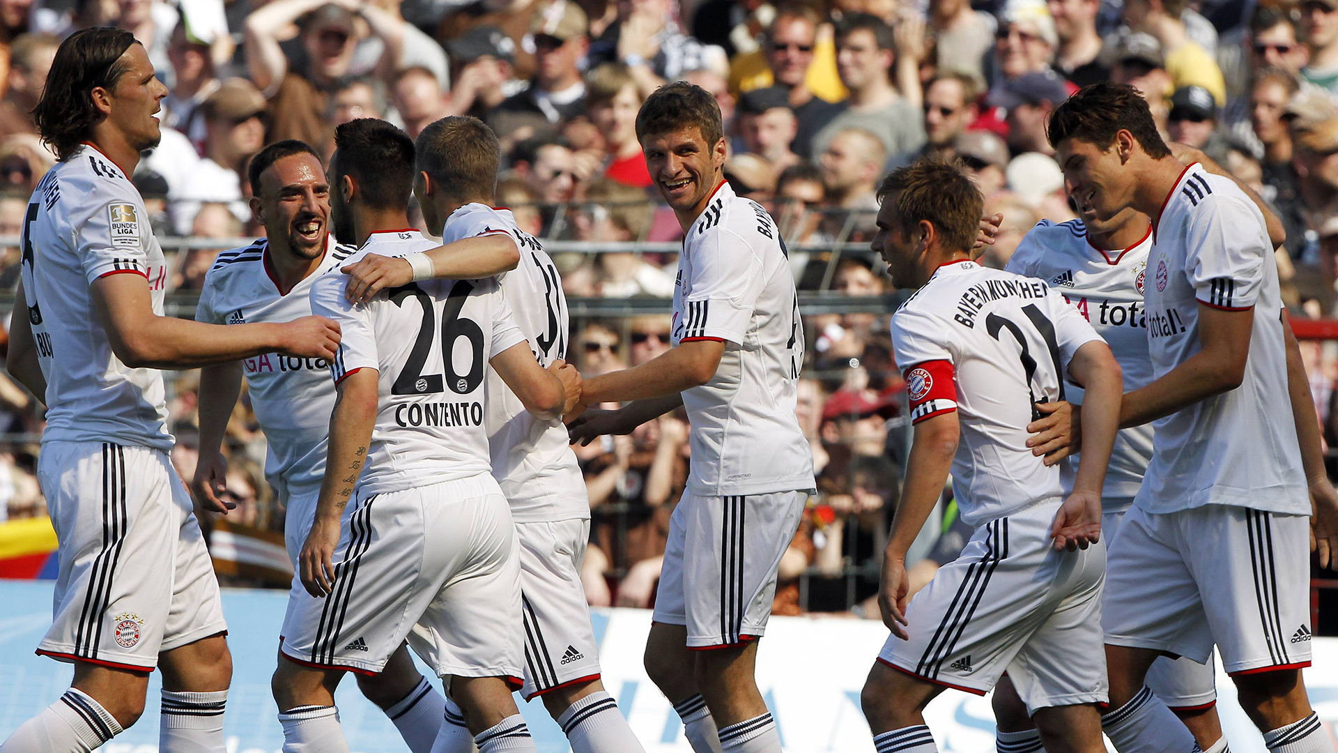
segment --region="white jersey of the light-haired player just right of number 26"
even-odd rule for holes
[[[498,280],[534,358],[547,368],[554,360],[567,358],[567,299],[558,269],[539,241],[515,225],[510,209],[466,204],[447,217],[442,243],[492,233],[510,234],[520,249],[520,264],[498,275]],[[539,421],[488,370],[484,421],[491,437],[492,474],[511,502],[516,523],[590,517],[585,478],[561,418]]]

